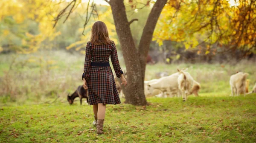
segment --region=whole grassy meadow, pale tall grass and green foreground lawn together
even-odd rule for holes
[[[121,55],[121,54],[119,54]],[[121,66],[124,62],[119,56]],[[256,82],[253,62],[237,64],[147,65],[145,80],[156,73],[189,68],[201,84],[199,97],[147,98],[148,106],[108,105],[105,135],[96,135],[92,107],[67,94],[82,84],[84,55],[40,51],[0,55],[0,142],[3,143],[255,143],[256,95],[230,97],[237,71]],[[124,99],[122,99],[124,101]]]

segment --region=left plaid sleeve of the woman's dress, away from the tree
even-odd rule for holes
[[[87,42],[86,50],[85,50],[85,60],[84,60],[84,73],[83,73],[83,76],[82,76],[82,80],[84,78],[87,81],[87,79],[89,77],[91,61],[92,61],[92,50],[91,50],[90,43]]]

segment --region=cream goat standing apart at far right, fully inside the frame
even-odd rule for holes
[[[231,95],[238,96],[246,93],[246,77],[248,73],[238,72],[230,77]]]

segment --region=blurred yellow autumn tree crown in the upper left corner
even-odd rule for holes
[[[0,47],[18,53],[52,48],[52,41],[60,34],[52,29],[59,5],[52,0],[1,0],[0,7]]]

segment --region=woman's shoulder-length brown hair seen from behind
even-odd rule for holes
[[[108,28],[102,21],[96,21],[93,24],[90,36],[90,42],[94,45],[109,45],[113,43],[108,37]]]

